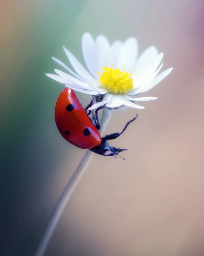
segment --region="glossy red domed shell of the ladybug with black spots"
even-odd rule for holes
[[[69,109],[70,106],[71,110]],[[90,149],[101,143],[98,130],[70,88],[65,88],[57,99],[55,121],[62,137],[74,146]],[[85,136],[84,130],[88,130],[90,134],[85,133]]]

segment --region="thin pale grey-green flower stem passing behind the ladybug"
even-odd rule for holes
[[[100,120],[101,129],[100,134],[102,135],[105,131],[105,128],[108,124],[108,121],[110,119],[111,110],[104,108]],[[91,160],[92,152],[90,150],[86,150],[86,153],[82,157],[79,165],[73,172],[70,180],[68,181],[65,189],[63,190],[60,198],[57,201],[57,204],[55,205],[55,208],[48,220],[47,226],[44,229],[41,241],[39,243],[39,246],[37,247],[37,251],[35,253],[35,256],[42,256],[46,250],[46,247],[49,243],[49,240],[55,230],[55,227],[57,226],[57,223],[62,215],[63,210],[65,209],[65,206],[68,202],[68,200],[71,197],[72,192],[74,191],[75,187],[77,186],[82,174],[84,173],[87,164]]]

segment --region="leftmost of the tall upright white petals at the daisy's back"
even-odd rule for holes
[[[97,78],[96,45],[89,33],[85,33],[82,36],[82,53],[88,70]]]

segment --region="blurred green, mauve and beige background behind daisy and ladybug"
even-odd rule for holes
[[[84,63],[86,31],[110,42],[135,36],[139,53],[155,45],[163,70],[174,70],[144,95],[158,100],[144,102],[112,142],[128,148],[126,160],[93,156],[45,255],[204,254],[203,10],[202,0],[1,2],[1,256],[33,255],[85,152],[58,132],[64,86],[45,73],[59,68],[52,56],[69,65],[62,45]],[[114,112],[106,134],[135,114]]]

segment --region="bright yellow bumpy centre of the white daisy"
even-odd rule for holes
[[[133,89],[132,78],[130,78],[131,73],[128,71],[115,68],[113,69],[113,65],[110,68],[103,67],[103,73],[100,76],[100,72],[97,74],[100,76],[100,86],[105,88],[108,92],[113,94],[125,94],[128,91]]]

